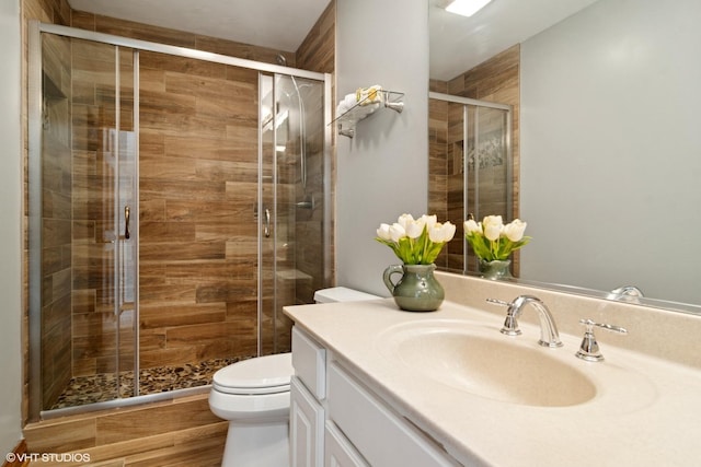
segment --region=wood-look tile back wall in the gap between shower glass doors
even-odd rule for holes
[[[254,355],[257,72],[140,66],[141,365]]]

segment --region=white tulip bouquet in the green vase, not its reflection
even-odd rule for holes
[[[392,248],[405,265],[430,265],[455,234],[456,226],[438,222],[436,215],[402,214],[391,225],[380,224],[375,240]]]

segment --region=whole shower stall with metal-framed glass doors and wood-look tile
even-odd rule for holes
[[[34,23],[30,417],[206,390],[331,283],[330,75]]]

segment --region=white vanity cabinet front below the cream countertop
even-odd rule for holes
[[[298,327],[292,329],[292,467],[458,465]]]

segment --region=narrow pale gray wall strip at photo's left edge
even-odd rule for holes
[[[22,436],[21,50],[20,2],[0,2],[0,453],[3,454],[12,452]]]

